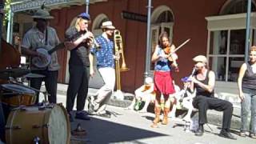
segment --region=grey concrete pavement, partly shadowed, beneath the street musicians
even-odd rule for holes
[[[44,88],[42,88],[42,90],[44,90]],[[66,105],[66,90],[67,85],[58,84],[57,100],[58,102],[62,102],[64,106]],[[89,95],[96,93],[96,91],[97,89],[90,89]],[[132,94],[126,95],[128,95],[128,99],[132,97]],[[115,104],[111,104],[111,101]],[[75,119],[75,121],[71,123],[71,130],[74,130],[77,124],[80,123],[87,131],[85,137],[72,136],[72,143],[256,143],[256,140],[252,138],[241,138],[237,134],[234,134],[238,138],[237,141],[218,137],[220,131],[218,126],[221,126],[222,123],[222,113],[220,112],[211,110],[208,112],[209,122],[214,123],[214,125],[210,125],[213,131],[206,126],[206,134],[202,137],[196,137],[194,133],[186,133],[184,131],[184,122],[178,118],[170,120],[170,125],[168,126],[160,125],[160,128],[152,129],[150,128],[150,124],[154,119],[153,113],[140,114],[136,111],[124,110],[122,107],[128,106],[130,100],[119,101],[118,103],[117,100],[112,98],[111,101],[110,105],[115,106],[108,106],[107,110],[113,111],[115,116],[114,114],[112,114],[111,118],[90,116],[90,121]],[[85,110],[86,109],[87,106]],[[236,128],[239,122],[234,123],[234,119],[240,122],[240,118],[232,118],[232,125],[235,125],[233,127]],[[234,133],[238,133],[237,128],[234,129]]]

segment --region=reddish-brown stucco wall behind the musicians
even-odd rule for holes
[[[193,62],[191,59],[197,54],[206,54],[207,28],[205,17],[217,15],[225,0],[215,1],[178,1],[161,0],[153,1],[153,10],[158,6],[166,5],[174,13],[174,43],[176,46],[187,38],[191,41],[178,50],[178,65],[180,72],[174,74],[174,79],[179,80],[190,74]],[[98,14],[106,14],[114,26],[121,31],[124,42],[126,65],[129,71],[123,72],[122,90],[133,92],[142,85],[146,58],[146,22],[136,22],[122,19],[122,10],[147,14],[147,0],[109,0],[90,5],[92,21]],[[71,6],[61,10],[52,10],[54,22],[52,25],[58,30],[58,35],[63,39],[64,31],[70,25],[70,21],[85,10],[85,6]],[[153,11],[152,10],[152,11]],[[62,66],[65,66],[66,51],[62,52]]]

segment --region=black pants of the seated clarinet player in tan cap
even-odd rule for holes
[[[222,99],[198,95],[194,98],[193,106],[199,110],[199,124],[207,123],[206,112],[210,110],[223,111],[222,129],[230,130],[233,105]]]

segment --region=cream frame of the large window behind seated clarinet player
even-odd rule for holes
[[[253,30],[256,30],[256,13],[251,14],[251,26],[250,26],[250,38],[252,38]],[[210,58],[226,58],[226,78],[225,81],[218,81],[218,82],[230,82],[228,81],[228,73],[229,73],[229,59],[230,58],[243,58],[246,54],[230,54],[230,31],[231,30],[246,30],[246,14],[229,14],[229,15],[220,15],[220,16],[213,16],[213,17],[206,17],[207,21],[207,29],[208,29],[208,36],[207,36],[207,50],[206,50],[206,57],[208,60]],[[221,30],[227,30],[227,52],[226,54],[210,54],[210,40],[211,33]],[[252,41],[250,41],[250,46],[254,42],[255,37]],[[248,54],[247,54],[248,55]],[[246,61],[246,59],[245,59]]]

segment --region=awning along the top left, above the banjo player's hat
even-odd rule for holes
[[[107,0],[90,0],[90,3],[106,2]],[[45,2],[45,6],[50,9],[60,9],[66,6],[81,6],[85,4],[85,0],[12,0],[10,4],[11,10],[15,13],[24,10],[38,9]]]

